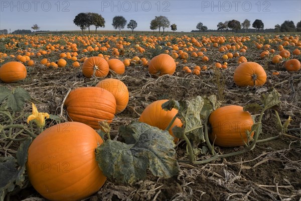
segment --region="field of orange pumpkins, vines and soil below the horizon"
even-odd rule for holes
[[[0,200],[300,200],[301,35],[0,35]]]

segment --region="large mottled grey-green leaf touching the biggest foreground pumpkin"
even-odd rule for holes
[[[173,137],[168,131],[141,122],[121,127],[125,143],[107,140],[96,149],[96,160],[103,174],[122,183],[155,176],[169,178],[179,173]]]

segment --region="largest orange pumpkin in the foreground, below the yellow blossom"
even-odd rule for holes
[[[46,129],[28,149],[30,182],[50,200],[88,197],[106,181],[95,157],[95,148],[102,143],[94,129],[79,122]]]

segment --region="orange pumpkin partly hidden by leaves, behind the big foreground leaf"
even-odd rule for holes
[[[162,104],[166,103],[168,99],[157,100],[152,104],[148,105],[142,112],[139,122],[146,123],[150,126],[158,127],[162,130],[165,130],[172,119],[177,115],[178,110],[172,109],[171,111],[165,111],[162,109]],[[179,139],[173,135],[172,129],[174,126],[182,127],[183,124],[179,118],[175,120],[171,128],[168,130],[169,133],[174,137],[174,142],[177,142]]]

